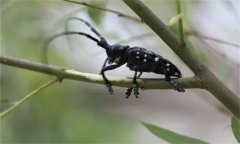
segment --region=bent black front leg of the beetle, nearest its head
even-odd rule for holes
[[[105,82],[105,85],[106,85],[106,87],[107,87],[107,89],[108,89],[108,91],[109,91],[110,94],[113,94],[112,85],[111,85],[111,83],[109,82],[109,80],[106,78],[104,72],[105,72],[105,71],[108,71],[108,70],[113,70],[113,69],[115,69],[115,68],[117,68],[117,67],[119,67],[119,66],[121,66],[121,65],[119,65],[119,64],[109,65],[109,66],[103,67],[102,70],[101,70],[101,72],[100,72],[100,74],[102,75],[103,80],[104,80],[104,82]]]

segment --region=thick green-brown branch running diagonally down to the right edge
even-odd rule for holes
[[[123,0],[195,73],[202,87],[240,118],[240,99],[198,58],[192,48],[182,45],[177,36],[140,0]]]

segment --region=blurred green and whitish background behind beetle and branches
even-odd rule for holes
[[[122,1],[87,1],[92,5],[136,16]],[[144,0],[166,24],[176,16],[173,0]],[[66,19],[89,21],[114,44],[141,46],[172,61],[183,73],[191,70],[144,23],[118,17],[62,0],[1,0],[1,55],[42,61],[44,42],[65,31]],[[239,96],[240,2],[238,0],[183,1],[184,28],[188,44],[203,62]],[[137,17],[137,16],[136,16]],[[94,35],[88,27],[70,21],[68,29]],[[224,44],[200,37],[229,42]],[[138,38],[133,39],[133,37]],[[70,47],[68,45],[68,41]],[[98,74],[105,51],[82,36],[63,36],[53,41],[49,63],[81,72]],[[125,66],[107,75],[132,77]],[[142,77],[157,77],[152,73]],[[1,105],[24,95],[53,77],[1,65]],[[209,143],[237,143],[231,132],[231,114],[210,93],[188,89],[140,91],[140,98],[125,98],[126,88],[64,80],[44,89],[1,120],[1,143],[165,143],[141,124],[148,122]]]

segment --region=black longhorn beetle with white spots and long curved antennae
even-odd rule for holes
[[[175,79],[171,78],[171,77],[181,78],[182,74],[180,70],[169,60],[142,47],[137,47],[137,46],[130,47],[128,45],[120,45],[120,44],[110,45],[106,41],[106,39],[95,28],[93,28],[90,25],[90,23],[88,23],[87,21],[81,18],[75,18],[75,17],[69,18],[68,20],[71,20],[71,19],[79,20],[85,23],[91,29],[91,31],[100,38],[100,40],[84,32],[68,31],[68,32],[63,32],[58,35],[55,35],[54,37],[49,39],[47,43],[51,42],[52,40],[54,40],[59,36],[77,34],[77,35],[86,36],[87,38],[95,41],[98,46],[104,48],[107,53],[107,58],[102,66],[100,74],[102,75],[105,85],[110,94],[113,94],[113,89],[112,89],[111,83],[105,76],[105,72],[108,70],[116,69],[125,63],[127,63],[127,67],[130,70],[135,72],[133,81],[132,81],[132,86],[127,89],[126,98],[128,98],[131,95],[132,91],[134,92],[135,97],[138,98],[139,85],[137,82],[137,78],[140,78],[143,72],[153,72],[156,74],[163,74],[165,75],[165,80],[168,81],[175,90],[177,90],[178,92],[185,91],[176,82]]]

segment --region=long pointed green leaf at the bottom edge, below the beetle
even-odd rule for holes
[[[156,135],[157,137],[167,141],[170,144],[207,144],[202,140],[198,140],[195,138],[191,138],[189,136],[184,136],[172,132],[170,130],[157,127],[153,124],[143,123],[145,128],[147,128],[152,134]]]

